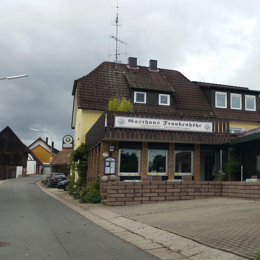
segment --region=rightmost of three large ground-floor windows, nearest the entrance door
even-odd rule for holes
[[[175,151],[175,176],[193,175],[193,151]]]

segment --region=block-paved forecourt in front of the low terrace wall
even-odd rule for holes
[[[260,248],[260,201],[209,198],[106,209],[250,259]]]

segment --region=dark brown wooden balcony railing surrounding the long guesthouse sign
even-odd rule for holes
[[[213,133],[209,132],[184,132],[184,131],[160,131],[153,129],[124,129],[114,127],[115,115],[175,119],[175,120],[193,120],[203,122],[213,122]],[[86,133],[86,149],[89,150],[101,140],[133,140],[133,141],[153,141],[161,142],[186,142],[186,143],[227,143],[229,142],[229,120],[221,118],[191,117],[159,115],[146,113],[127,113],[105,111],[92,128]]]

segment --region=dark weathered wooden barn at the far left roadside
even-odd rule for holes
[[[26,174],[29,148],[7,126],[0,132],[0,180],[12,179],[17,166]],[[14,177],[15,178],[15,177]]]

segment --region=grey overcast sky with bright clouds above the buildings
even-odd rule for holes
[[[49,132],[59,150],[64,135],[74,137],[73,82],[109,60],[116,3],[1,0],[0,78],[29,77],[0,81],[0,130],[9,125],[26,145],[48,136],[30,128]],[[125,9],[118,10],[118,37],[138,65],[154,59],[190,80],[260,90],[258,0],[120,0],[119,6]]]

